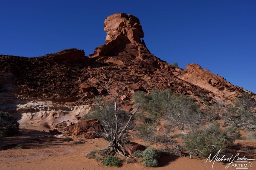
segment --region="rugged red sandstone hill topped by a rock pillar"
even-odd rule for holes
[[[190,95],[201,104],[229,105],[245,92],[256,99],[253,92],[200,65],[187,64],[183,70],[155,57],[141,40],[142,26],[133,15],[116,13],[104,24],[105,44],[89,57],[76,48],[33,58],[0,55],[0,110],[20,123],[78,122],[95,96],[110,99],[105,89],[109,79],[113,94],[122,90],[119,103],[126,111],[135,91],[150,93],[154,88]]]

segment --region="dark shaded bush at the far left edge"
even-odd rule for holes
[[[0,111],[0,136],[12,136],[18,133],[19,123],[8,112]]]

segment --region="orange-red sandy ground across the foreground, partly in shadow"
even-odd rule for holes
[[[103,149],[108,146],[104,139],[87,139],[83,143],[65,142],[65,137],[55,137],[49,134],[44,126],[23,126],[19,136],[2,138],[1,142],[13,144],[9,149],[0,151],[0,170],[225,170],[226,164],[212,162],[205,163],[206,159],[189,159],[187,157],[162,156],[160,167],[143,167],[142,163],[127,164],[123,161],[122,167],[105,167],[100,162],[85,158],[85,154],[93,149]],[[73,136],[70,136],[76,139]],[[256,156],[256,141],[239,140],[236,143],[250,147],[253,153],[241,153],[248,159]],[[13,148],[23,144],[26,149]],[[238,151],[237,151],[238,152]],[[254,158],[255,159],[255,158]],[[256,161],[251,161],[249,170],[256,170]],[[227,168],[236,170],[235,167]]]

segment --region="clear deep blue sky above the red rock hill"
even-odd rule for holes
[[[181,68],[197,63],[256,93],[256,0],[1,0],[0,54],[92,54],[105,18],[140,19],[152,54]]]

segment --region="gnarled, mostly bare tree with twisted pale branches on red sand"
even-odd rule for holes
[[[113,102],[104,102],[98,100],[97,105],[92,108],[92,112],[88,113],[85,118],[98,119],[101,122],[103,132],[95,131],[96,134],[109,142],[109,146],[105,149],[107,155],[119,153],[121,156],[132,157],[124,148],[128,140],[128,130],[132,127],[134,114],[140,105],[134,109],[132,113],[120,111],[117,99],[119,92],[114,96],[106,87],[108,94],[112,97]]]

